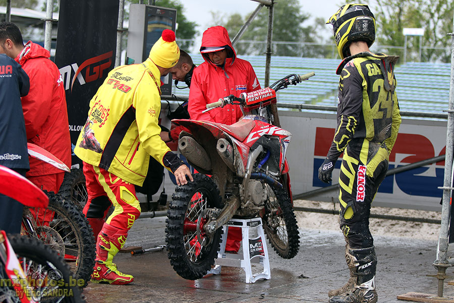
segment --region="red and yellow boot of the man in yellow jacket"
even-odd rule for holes
[[[125,245],[128,231],[104,223],[96,241],[96,264],[91,275],[91,282],[109,284],[128,284],[134,277],[124,274],[112,262],[113,257]]]

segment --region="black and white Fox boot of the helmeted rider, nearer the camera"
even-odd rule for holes
[[[376,303],[378,300],[375,291],[375,270],[377,256],[374,247],[350,249],[354,258],[355,267],[352,274],[356,276],[353,289],[329,298],[329,303]]]

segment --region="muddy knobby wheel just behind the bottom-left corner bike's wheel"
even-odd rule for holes
[[[49,205],[44,209],[32,208],[24,213],[23,233],[44,242],[56,250],[75,273],[77,279],[88,281],[95,264],[93,230],[82,212],[59,194],[46,192]]]

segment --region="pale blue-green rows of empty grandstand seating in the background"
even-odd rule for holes
[[[203,62],[200,54],[191,54],[196,65]],[[249,61],[263,86],[265,56],[239,56]],[[315,72],[315,76],[297,86],[278,92],[279,103],[336,106],[339,76],[335,74],[339,59],[271,57],[270,83],[289,74]],[[448,109],[450,64],[409,62],[395,69],[401,111],[441,113]],[[184,86],[184,83],[179,86]],[[189,95],[189,89],[176,89],[174,94]]]

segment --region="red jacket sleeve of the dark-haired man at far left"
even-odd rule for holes
[[[55,79],[45,64],[45,59],[34,59],[26,66],[30,78],[30,91],[21,98],[27,139],[39,132],[46,121],[52,102]]]

